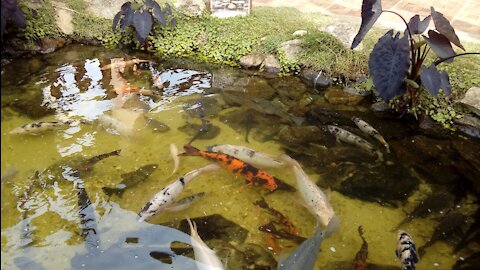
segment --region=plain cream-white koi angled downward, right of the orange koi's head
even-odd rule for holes
[[[298,161],[283,155],[282,159],[293,167],[297,186],[306,208],[312,213],[321,225],[327,226],[335,217],[332,205],[327,195],[310,179]]]

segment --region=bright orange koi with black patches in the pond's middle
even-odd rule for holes
[[[263,186],[270,191],[274,191],[277,188],[288,191],[295,190],[295,188],[286,184],[280,179],[277,179],[269,175],[267,172],[257,169],[254,166],[233,156],[224,153],[202,151],[189,144],[184,145],[183,148],[185,149],[185,152],[179,154],[179,156],[202,156],[208,160],[215,161],[218,165],[226,170],[236,175],[244,176],[248,184],[254,186]]]

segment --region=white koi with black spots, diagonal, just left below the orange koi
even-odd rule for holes
[[[168,186],[164,187],[160,190],[157,194],[155,194],[150,201],[140,210],[138,215],[140,218],[138,219],[139,222],[144,220],[148,220],[153,216],[160,213],[165,208],[172,205],[175,199],[182,193],[185,186],[195,177],[204,173],[210,172],[214,170],[218,170],[220,167],[216,164],[210,164],[200,169],[193,170],[191,172],[186,173],[184,176],[178,178],[173,183],[169,184]]]

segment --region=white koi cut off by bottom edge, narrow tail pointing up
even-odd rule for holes
[[[222,261],[218,258],[215,251],[211,250],[205,242],[203,242],[197,232],[197,225],[187,218],[190,225],[190,235],[192,238],[193,251],[198,269],[205,270],[221,270],[224,269]]]

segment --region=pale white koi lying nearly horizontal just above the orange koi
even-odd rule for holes
[[[240,145],[216,144],[207,147],[207,151],[227,154],[257,167],[280,168],[285,166],[285,161],[279,157],[257,152]]]

